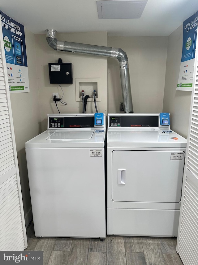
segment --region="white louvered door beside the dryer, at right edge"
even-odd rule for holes
[[[198,38],[197,38],[198,43]],[[184,265],[198,264],[198,44],[187,141],[177,252]]]

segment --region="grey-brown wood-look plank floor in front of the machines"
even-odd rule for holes
[[[183,265],[171,237],[37,238],[33,223],[27,237],[26,251],[43,251],[43,265]]]

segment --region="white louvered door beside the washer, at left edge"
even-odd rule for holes
[[[22,251],[27,236],[0,26],[0,251]]]

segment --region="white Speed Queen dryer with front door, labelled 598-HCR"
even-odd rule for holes
[[[107,235],[177,236],[186,145],[168,113],[108,114]]]

